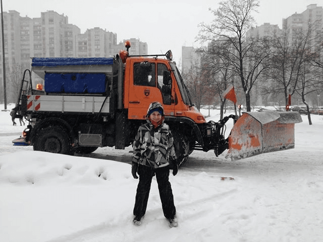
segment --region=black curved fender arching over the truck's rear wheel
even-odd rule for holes
[[[30,140],[31,143],[33,144],[34,141],[34,137],[36,136],[36,134],[43,128],[49,127],[49,126],[60,126],[62,128],[64,128],[67,133],[69,134],[69,137],[71,138],[71,142],[73,143],[74,139],[73,137],[75,137],[75,135],[73,134],[73,129],[70,126],[70,124],[68,122],[66,122],[64,119],[62,118],[58,118],[58,117],[50,117],[50,118],[45,118],[43,120],[41,120],[32,130],[31,130],[31,135],[30,135]]]

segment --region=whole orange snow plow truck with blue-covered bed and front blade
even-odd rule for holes
[[[130,146],[149,104],[165,108],[179,163],[193,150],[228,150],[231,159],[294,148],[298,112],[246,112],[206,122],[193,106],[172,52],[116,57],[34,57],[25,70],[16,115],[29,122],[14,145],[61,154]],[[35,86],[35,83],[40,83]],[[237,119],[225,138],[226,122]]]

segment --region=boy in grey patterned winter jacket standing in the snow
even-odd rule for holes
[[[171,227],[177,227],[176,208],[169,181],[170,158],[174,162],[173,175],[178,171],[173,135],[169,126],[164,124],[164,108],[159,102],[149,105],[146,118],[147,123],[139,127],[133,142],[131,173],[135,179],[139,174],[133,223],[141,224],[147,208],[151,180],[156,175],[164,216]]]

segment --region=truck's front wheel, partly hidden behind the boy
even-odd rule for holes
[[[173,137],[178,165],[181,166],[188,159],[189,141],[187,136],[182,133],[174,132]]]

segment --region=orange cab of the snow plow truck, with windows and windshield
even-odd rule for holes
[[[129,57],[124,78],[124,108],[128,119],[145,119],[149,104],[163,104],[165,116],[188,117],[205,123],[194,107],[176,64],[169,59]]]

